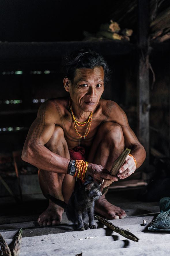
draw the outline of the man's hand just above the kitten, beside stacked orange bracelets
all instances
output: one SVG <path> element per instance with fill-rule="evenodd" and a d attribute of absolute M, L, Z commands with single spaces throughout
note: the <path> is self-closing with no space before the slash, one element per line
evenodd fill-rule
<path fill-rule="evenodd" d="M 98 164 L 88 164 L 86 175 L 91 175 L 93 180 L 98 183 L 102 183 L 104 179 L 101 188 L 109 186 L 113 181 L 118 181 L 117 177 L 110 175 L 108 170 Z"/>

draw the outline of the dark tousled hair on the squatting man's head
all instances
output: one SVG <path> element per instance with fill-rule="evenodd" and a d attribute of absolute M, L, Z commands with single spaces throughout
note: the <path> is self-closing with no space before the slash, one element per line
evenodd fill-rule
<path fill-rule="evenodd" d="M 103 67 L 104 70 L 104 83 L 110 79 L 111 70 L 100 53 L 97 53 L 89 48 L 80 49 L 66 54 L 63 57 L 63 70 L 65 77 L 73 81 L 75 70 L 77 68 L 95 68 Z"/>

